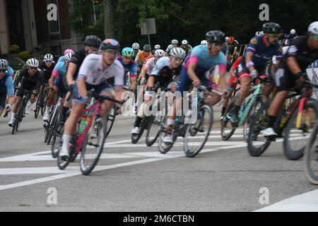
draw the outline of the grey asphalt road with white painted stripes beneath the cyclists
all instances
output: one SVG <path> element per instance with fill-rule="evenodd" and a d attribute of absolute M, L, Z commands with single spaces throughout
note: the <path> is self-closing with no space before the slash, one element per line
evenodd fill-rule
<path fill-rule="evenodd" d="M 144 136 L 131 144 L 134 119 L 119 117 L 89 176 L 78 160 L 57 168 L 42 119 L 28 116 L 15 136 L 7 122 L 1 117 L 0 211 L 318 210 L 317 186 L 307 182 L 302 160 L 287 160 L 279 141 L 250 157 L 242 129 L 222 141 L 218 122 L 204 150 L 189 158 L 182 139 L 166 155 L 156 143 L 147 147 Z M 288 204 L 275 204 L 281 201 Z"/>

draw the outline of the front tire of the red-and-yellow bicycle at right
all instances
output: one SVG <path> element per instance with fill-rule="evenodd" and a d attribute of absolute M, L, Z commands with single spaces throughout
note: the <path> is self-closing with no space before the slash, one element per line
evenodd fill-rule
<path fill-rule="evenodd" d="M 307 100 L 304 105 L 304 109 L 311 108 L 314 109 L 316 112 L 316 119 L 318 119 L 318 103 L 315 100 Z M 290 145 L 290 131 L 292 129 L 292 126 L 294 125 L 294 121 L 298 116 L 298 109 L 299 106 L 295 109 L 293 114 L 290 116 L 290 119 L 288 120 L 288 123 L 285 127 L 285 134 L 284 134 L 284 141 L 283 141 L 283 152 L 285 154 L 285 157 L 288 158 L 288 160 L 299 160 L 302 155 L 304 155 L 305 145 L 298 149 L 293 150 Z"/>

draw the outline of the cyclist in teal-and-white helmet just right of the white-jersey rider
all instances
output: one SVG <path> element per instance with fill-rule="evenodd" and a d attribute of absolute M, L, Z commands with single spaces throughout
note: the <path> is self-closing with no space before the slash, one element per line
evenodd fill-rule
<path fill-rule="evenodd" d="M 130 89 L 135 90 L 137 86 L 137 66 L 135 62 L 133 61 L 132 57 L 134 56 L 134 49 L 131 49 L 130 47 L 125 47 L 122 49 L 122 56 L 118 57 L 118 60 L 120 63 L 122 63 L 122 66 L 124 66 L 125 70 L 125 81 L 127 73 L 129 72 L 129 78 L 131 81 Z M 126 84 L 125 84 L 126 85 Z"/>

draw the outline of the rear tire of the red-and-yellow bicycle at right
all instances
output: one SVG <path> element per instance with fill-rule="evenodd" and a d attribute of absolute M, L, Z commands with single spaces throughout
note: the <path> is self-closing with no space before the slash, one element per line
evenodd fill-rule
<path fill-rule="evenodd" d="M 255 147 L 252 143 L 254 137 L 259 136 L 259 132 L 264 129 L 261 124 L 264 123 L 264 116 L 266 115 L 266 109 L 269 108 L 269 104 L 270 102 L 266 102 L 264 105 L 262 105 L 257 114 L 255 114 L 254 119 L 252 119 L 251 123 L 249 124 L 249 140 L 247 142 L 247 150 L 249 152 L 249 155 L 253 157 L 257 157 L 263 154 L 264 151 L 269 148 L 269 145 L 271 144 L 271 141 L 269 139 L 266 139 L 266 142 L 260 147 Z"/>

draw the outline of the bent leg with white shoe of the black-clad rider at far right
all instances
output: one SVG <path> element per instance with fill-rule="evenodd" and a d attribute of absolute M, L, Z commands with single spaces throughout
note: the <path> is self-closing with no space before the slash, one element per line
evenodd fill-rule
<path fill-rule="evenodd" d="M 288 74 L 288 71 L 283 68 L 278 69 L 275 73 L 275 83 L 278 93 L 276 93 L 273 102 L 271 102 L 268 114 L 266 115 L 266 129 L 261 131 L 264 136 L 277 136 L 277 134 L 273 131 L 273 124 L 278 117 L 279 111 L 283 106 L 283 102 L 285 102 L 288 97 L 290 88 L 295 86 L 295 81 L 291 78 L 292 77 Z"/>

